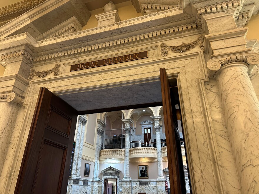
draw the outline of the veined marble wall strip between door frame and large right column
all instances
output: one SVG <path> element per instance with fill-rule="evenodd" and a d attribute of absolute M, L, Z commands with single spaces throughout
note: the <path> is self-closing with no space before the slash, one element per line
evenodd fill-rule
<path fill-rule="evenodd" d="M 220 102 L 218 85 L 216 79 L 210 79 L 204 83 L 209 102 L 212 124 L 215 132 L 220 166 L 223 172 L 225 189 L 227 193 L 240 193 L 238 175 L 235 168 L 234 158 L 230 147 L 228 131 L 225 124 L 223 109 Z"/>

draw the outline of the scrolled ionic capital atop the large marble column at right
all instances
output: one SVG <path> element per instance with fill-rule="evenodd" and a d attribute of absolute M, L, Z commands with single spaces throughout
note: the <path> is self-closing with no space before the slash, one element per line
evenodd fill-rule
<path fill-rule="evenodd" d="M 248 66 L 247 73 L 250 74 L 253 71 L 255 65 L 259 64 L 259 54 L 258 53 L 246 53 L 244 55 L 233 55 L 224 58 L 212 58 L 207 62 L 208 76 L 209 78 L 214 78 L 216 71 L 218 71 L 222 66 L 234 63 L 243 62 Z"/>

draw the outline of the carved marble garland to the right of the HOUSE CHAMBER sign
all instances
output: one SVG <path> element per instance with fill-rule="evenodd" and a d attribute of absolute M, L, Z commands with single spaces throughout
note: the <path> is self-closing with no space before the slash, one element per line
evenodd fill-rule
<path fill-rule="evenodd" d="M 203 50 L 204 48 L 204 35 L 200 35 L 199 38 L 196 41 L 192 41 L 191 43 L 182 43 L 178 46 L 167 46 L 165 43 L 161 43 L 161 55 L 163 57 L 168 55 L 168 50 L 174 52 L 174 53 L 185 53 L 186 51 L 189 51 L 190 49 L 195 48 L 197 45 L 200 46 L 200 49 Z M 168 49 L 168 50 L 167 50 Z"/>

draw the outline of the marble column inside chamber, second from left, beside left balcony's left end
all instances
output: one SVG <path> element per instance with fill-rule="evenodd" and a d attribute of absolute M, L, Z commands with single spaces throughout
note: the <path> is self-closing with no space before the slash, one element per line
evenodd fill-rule
<path fill-rule="evenodd" d="M 99 156 L 101 150 L 101 141 L 102 141 L 102 134 L 104 128 L 104 121 L 101 119 L 97 119 L 97 136 L 96 136 L 96 144 L 95 144 L 95 154 L 94 154 L 94 175 L 93 180 L 98 181 L 99 175 Z"/>

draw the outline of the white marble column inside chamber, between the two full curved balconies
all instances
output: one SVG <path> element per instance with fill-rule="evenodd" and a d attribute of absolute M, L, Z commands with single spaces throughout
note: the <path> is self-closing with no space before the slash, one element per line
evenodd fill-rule
<path fill-rule="evenodd" d="M 133 123 L 131 118 L 122 119 L 125 123 L 125 150 L 124 150 L 124 177 L 123 180 L 130 180 L 129 177 L 129 135 L 131 130 L 131 123 Z"/>

